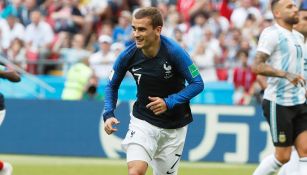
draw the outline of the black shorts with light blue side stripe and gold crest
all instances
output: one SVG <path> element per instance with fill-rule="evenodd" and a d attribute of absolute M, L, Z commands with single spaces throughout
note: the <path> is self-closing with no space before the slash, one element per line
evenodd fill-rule
<path fill-rule="evenodd" d="M 281 106 L 263 100 L 263 113 L 270 125 L 275 146 L 287 147 L 294 144 L 296 137 L 307 130 L 307 104 Z"/>

